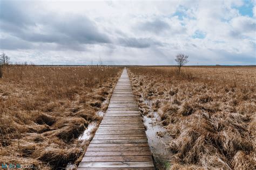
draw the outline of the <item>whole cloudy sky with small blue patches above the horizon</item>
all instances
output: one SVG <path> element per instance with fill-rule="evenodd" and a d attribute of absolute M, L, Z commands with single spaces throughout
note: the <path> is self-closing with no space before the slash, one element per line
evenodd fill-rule
<path fill-rule="evenodd" d="M 0 52 L 35 64 L 255 65 L 256 0 L 2 1 Z"/>

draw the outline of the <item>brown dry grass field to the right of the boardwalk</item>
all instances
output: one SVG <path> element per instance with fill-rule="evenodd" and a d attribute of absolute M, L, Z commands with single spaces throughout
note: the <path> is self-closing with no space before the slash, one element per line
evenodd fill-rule
<path fill-rule="evenodd" d="M 256 68 L 130 67 L 144 115 L 157 111 L 173 137 L 171 169 L 256 168 Z M 143 101 L 150 100 L 152 107 Z"/>

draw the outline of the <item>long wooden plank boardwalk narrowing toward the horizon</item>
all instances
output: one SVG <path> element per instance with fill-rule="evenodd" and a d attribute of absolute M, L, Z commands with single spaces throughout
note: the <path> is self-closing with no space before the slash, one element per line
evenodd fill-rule
<path fill-rule="evenodd" d="M 78 169 L 154 169 L 126 69 Z"/>

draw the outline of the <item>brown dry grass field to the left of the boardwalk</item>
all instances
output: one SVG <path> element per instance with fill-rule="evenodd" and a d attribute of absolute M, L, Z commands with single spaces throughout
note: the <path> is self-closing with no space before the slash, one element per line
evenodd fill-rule
<path fill-rule="evenodd" d="M 89 141 L 77 138 L 106 110 L 119 67 L 9 65 L 0 79 L 0 162 L 61 168 Z"/>

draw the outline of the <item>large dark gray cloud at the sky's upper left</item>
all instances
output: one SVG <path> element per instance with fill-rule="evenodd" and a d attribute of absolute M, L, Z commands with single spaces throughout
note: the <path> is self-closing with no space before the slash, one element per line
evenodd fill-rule
<path fill-rule="evenodd" d="M 73 44 L 111 43 L 109 37 L 85 16 L 48 13 L 46 16 L 25 17 L 25 12 L 26 10 L 19 10 L 12 2 L 1 2 L 0 31 L 24 41 L 55 43 L 59 47 L 65 45 L 75 50 L 77 48 Z M 42 25 L 41 31 L 37 33 L 35 30 Z M 21 41 L 15 42 L 15 47 L 18 47 L 18 42 Z M 12 44 L 4 44 L 1 48 L 10 49 L 11 46 Z M 24 48 L 24 45 L 21 44 L 20 48 Z"/>

